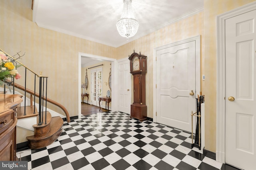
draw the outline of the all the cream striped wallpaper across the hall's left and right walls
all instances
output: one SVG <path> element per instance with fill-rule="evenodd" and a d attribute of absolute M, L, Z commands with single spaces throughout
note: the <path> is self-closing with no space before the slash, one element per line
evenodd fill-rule
<path fill-rule="evenodd" d="M 123 59 L 141 51 L 148 56 L 146 105 L 153 117 L 154 48 L 196 35 L 201 36 L 201 91 L 205 95 L 205 149 L 216 151 L 216 16 L 254 0 L 204 0 L 204 12 L 178 21 L 118 48 L 40 28 L 32 22 L 31 0 L 0 0 L 0 47 L 10 55 L 22 51 L 22 63 L 39 74 L 49 76 L 49 98 L 78 115 L 78 52 Z M 24 75 L 23 72 L 20 72 Z M 83 80 L 83 79 L 82 79 Z M 20 80 L 21 81 L 21 80 Z M 19 83 L 19 82 L 17 82 Z M 28 85 L 30 86 L 30 85 Z M 72 89 L 72 90 L 67 90 Z M 52 106 L 54 107 L 54 106 Z M 57 112 L 62 112 L 55 108 Z M 17 143 L 22 139 L 17 138 Z"/>

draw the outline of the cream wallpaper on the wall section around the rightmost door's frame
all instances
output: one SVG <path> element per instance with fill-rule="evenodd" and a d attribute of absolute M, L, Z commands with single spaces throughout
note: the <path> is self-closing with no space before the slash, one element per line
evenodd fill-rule
<path fill-rule="evenodd" d="M 204 0 L 205 149 L 216 152 L 216 16 L 254 0 Z"/>

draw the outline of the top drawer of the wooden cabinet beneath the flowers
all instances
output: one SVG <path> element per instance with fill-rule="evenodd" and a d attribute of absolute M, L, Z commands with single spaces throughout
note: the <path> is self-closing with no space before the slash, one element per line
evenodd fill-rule
<path fill-rule="evenodd" d="M 13 112 L 13 110 L 8 110 L 3 113 L 0 113 L 0 134 L 13 123 Z"/>

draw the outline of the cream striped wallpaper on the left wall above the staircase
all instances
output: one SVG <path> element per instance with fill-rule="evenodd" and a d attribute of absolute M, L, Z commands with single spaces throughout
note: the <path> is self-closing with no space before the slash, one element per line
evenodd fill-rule
<path fill-rule="evenodd" d="M 65 106 L 70 116 L 78 115 L 78 108 L 73 107 L 78 102 L 74 95 L 78 93 L 78 82 L 73 82 L 78 80 L 78 52 L 113 58 L 116 48 L 38 27 L 32 22 L 31 3 L 0 0 L 0 47 L 10 55 L 25 53 L 21 62 L 37 74 L 42 71 L 43 76 L 49 77 L 48 98 Z M 24 75 L 21 69 L 18 71 Z M 22 84 L 21 81 L 16 83 Z M 32 88 L 30 84 L 28 88 Z"/>

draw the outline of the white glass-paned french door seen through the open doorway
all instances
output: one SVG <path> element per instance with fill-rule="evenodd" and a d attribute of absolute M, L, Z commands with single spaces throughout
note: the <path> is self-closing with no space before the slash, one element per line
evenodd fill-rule
<path fill-rule="evenodd" d="M 99 106 L 99 97 L 102 96 L 102 68 L 91 70 L 92 105 Z"/>

